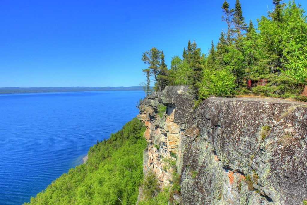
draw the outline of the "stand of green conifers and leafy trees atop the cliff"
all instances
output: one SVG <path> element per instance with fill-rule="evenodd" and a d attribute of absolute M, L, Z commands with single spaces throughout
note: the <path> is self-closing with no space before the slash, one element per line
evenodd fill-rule
<path fill-rule="evenodd" d="M 146 82 L 153 79 L 154 90 L 160 92 L 168 85 L 190 85 L 196 104 L 212 95 L 255 94 L 306 101 L 301 96 L 307 79 L 305 11 L 294 1 L 273 0 L 273 4 L 255 26 L 244 18 L 239 0 L 234 7 L 225 1 L 221 5 L 225 29 L 208 53 L 189 40 L 182 56 L 172 57 L 168 69 L 163 51 L 153 47 L 142 56 L 149 65 L 143 70 Z M 142 85 L 149 94 L 149 84 Z"/>

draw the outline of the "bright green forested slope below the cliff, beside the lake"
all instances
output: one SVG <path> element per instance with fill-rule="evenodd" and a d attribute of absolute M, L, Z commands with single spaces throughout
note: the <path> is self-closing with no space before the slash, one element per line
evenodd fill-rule
<path fill-rule="evenodd" d="M 144 177 L 144 131 L 139 120 L 131 120 L 91 147 L 87 164 L 70 169 L 29 204 L 135 204 Z"/>

